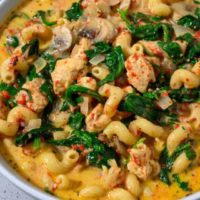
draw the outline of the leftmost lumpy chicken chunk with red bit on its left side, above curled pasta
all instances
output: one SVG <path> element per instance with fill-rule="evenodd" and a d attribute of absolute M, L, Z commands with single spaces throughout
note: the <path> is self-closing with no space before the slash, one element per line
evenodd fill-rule
<path fill-rule="evenodd" d="M 28 90 L 30 94 L 25 90 L 21 90 L 16 96 L 17 103 L 24 105 L 37 113 L 42 112 L 48 104 L 48 98 L 40 91 L 40 87 L 43 83 L 44 80 L 41 78 L 26 82 L 22 88 Z"/>

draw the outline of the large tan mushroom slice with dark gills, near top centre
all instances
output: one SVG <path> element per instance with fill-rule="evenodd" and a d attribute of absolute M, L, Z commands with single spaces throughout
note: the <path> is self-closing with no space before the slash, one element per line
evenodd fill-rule
<path fill-rule="evenodd" d="M 115 38 L 116 34 L 117 30 L 112 22 L 98 17 L 88 17 L 87 20 L 83 22 L 82 29 L 79 32 L 79 35 L 93 39 L 94 42 L 110 42 Z"/>

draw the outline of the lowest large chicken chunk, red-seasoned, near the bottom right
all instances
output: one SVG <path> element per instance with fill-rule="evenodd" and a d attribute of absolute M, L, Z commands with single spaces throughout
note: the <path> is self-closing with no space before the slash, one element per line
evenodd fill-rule
<path fill-rule="evenodd" d="M 151 150 L 142 143 L 136 148 L 130 149 L 130 161 L 127 168 L 141 180 L 147 180 L 147 178 L 158 174 L 160 171 L 158 162 L 152 158 Z"/>

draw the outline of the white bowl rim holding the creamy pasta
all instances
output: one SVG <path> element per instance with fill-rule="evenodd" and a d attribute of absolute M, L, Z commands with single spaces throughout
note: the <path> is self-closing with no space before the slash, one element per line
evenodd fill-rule
<path fill-rule="evenodd" d="M 19 5 L 23 0 L 0 0 L 0 22 L 9 15 L 9 13 Z M 43 192 L 12 169 L 5 159 L 0 155 L 0 173 L 7 177 L 13 184 L 25 191 L 26 193 L 41 200 L 57 200 L 57 198 Z M 184 200 L 200 200 L 200 192 L 190 195 Z"/>

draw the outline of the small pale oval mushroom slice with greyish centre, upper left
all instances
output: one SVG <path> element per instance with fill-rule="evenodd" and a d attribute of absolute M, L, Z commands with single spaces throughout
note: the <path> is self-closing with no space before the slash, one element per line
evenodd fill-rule
<path fill-rule="evenodd" d="M 72 44 L 72 33 L 70 29 L 63 25 L 58 26 L 53 30 L 54 39 L 53 46 L 58 51 L 66 51 Z"/>

